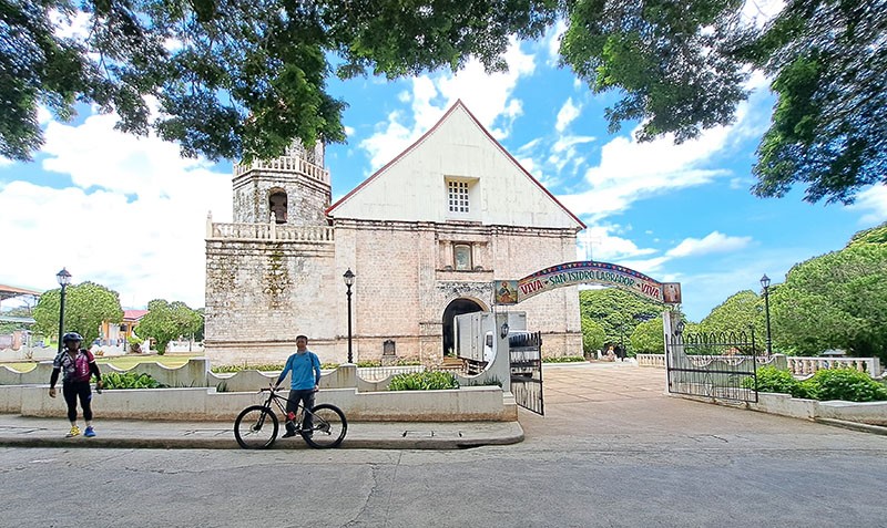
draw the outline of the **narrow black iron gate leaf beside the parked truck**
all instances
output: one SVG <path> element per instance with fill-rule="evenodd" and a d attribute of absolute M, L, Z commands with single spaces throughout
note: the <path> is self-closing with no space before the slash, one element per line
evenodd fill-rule
<path fill-rule="evenodd" d="M 542 333 L 520 333 L 508 338 L 511 360 L 511 393 L 514 402 L 544 415 L 542 401 Z"/>

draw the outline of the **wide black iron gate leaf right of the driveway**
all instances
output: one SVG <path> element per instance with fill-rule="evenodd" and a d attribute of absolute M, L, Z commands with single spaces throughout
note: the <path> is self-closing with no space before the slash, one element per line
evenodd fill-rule
<path fill-rule="evenodd" d="M 669 340 L 669 392 L 757 402 L 757 353 L 745 332 L 675 334 Z"/>

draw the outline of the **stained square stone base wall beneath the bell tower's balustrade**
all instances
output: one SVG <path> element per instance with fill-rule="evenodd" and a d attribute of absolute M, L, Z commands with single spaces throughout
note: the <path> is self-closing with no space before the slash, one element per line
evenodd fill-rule
<path fill-rule="evenodd" d="M 333 360 L 330 283 L 341 283 L 333 241 L 207 240 L 205 354 L 214 364 L 281 362 L 306 334 Z"/>

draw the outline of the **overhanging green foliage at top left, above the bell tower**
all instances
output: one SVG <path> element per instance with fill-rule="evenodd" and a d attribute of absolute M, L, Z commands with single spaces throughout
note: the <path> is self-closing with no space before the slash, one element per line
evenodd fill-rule
<path fill-rule="evenodd" d="M 470 56 L 502 69 L 509 37 L 539 37 L 554 12 L 544 0 L 0 0 L 0 155 L 30 159 L 43 143 L 38 106 L 67 120 L 75 102 L 188 156 L 340 142 L 330 74 L 395 77 Z M 78 14 L 86 35 L 69 37 L 60 28 Z"/>

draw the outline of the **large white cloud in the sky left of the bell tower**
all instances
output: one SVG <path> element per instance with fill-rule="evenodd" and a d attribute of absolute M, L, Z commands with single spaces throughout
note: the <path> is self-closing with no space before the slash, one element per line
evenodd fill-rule
<path fill-rule="evenodd" d="M 0 188 L 0 231 L 14 248 L 1 282 L 55 288 L 67 267 L 121 294 L 126 307 L 156 298 L 204 306 L 207 211 L 231 220 L 231 175 L 182 159 L 175 145 L 113 131 L 115 116 L 47 128 L 43 167 L 73 186 L 11 182 Z M 39 255 L 39 258 L 33 256 Z"/>

